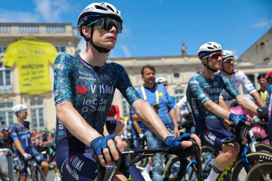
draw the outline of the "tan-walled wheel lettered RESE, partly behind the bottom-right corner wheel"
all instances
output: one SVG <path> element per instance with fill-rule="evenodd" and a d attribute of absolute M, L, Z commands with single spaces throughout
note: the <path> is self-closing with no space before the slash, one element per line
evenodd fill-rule
<path fill-rule="evenodd" d="M 272 160 L 272 154 L 264 153 L 264 152 L 252 152 L 247 154 L 247 158 L 248 158 L 250 167 L 253 167 L 253 165 L 259 161 Z M 241 160 L 239 160 L 232 170 L 230 180 L 231 181 L 245 180 L 246 176 L 247 176 L 247 173 L 244 169 L 244 166 Z"/>

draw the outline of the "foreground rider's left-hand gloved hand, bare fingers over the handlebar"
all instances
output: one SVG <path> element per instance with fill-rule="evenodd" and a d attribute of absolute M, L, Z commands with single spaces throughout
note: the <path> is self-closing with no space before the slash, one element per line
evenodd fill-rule
<path fill-rule="evenodd" d="M 112 157 L 114 160 L 119 159 L 119 154 L 115 148 L 114 142 L 117 144 L 117 148 L 119 151 L 124 151 L 128 145 L 125 141 L 122 141 L 122 138 L 120 136 L 116 134 L 108 135 L 105 137 L 101 136 L 101 137 L 95 138 L 91 142 L 92 149 L 98 155 L 100 163 L 104 167 L 106 167 L 107 163 L 110 165 L 113 165 L 113 160 L 110 156 L 110 153 L 112 154 Z M 105 157 L 105 160 L 103 158 L 103 155 Z"/>

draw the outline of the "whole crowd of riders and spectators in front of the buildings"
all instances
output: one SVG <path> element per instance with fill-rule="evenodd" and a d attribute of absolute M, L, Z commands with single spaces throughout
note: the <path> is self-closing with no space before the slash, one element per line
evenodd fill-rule
<path fill-rule="evenodd" d="M 122 131 L 139 138 L 145 135 L 148 148 L 167 147 L 173 151 L 192 146 L 188 141 L 192 138 L 200 151 L 202 145 L 220 151 L 206 179 L 215 180 L 240 151 L 237 142 L 222 144 L 224 138 L 232 135 L 229 125 L 236 128 L 250 125 L 250 116 L 234 114 L 229 107 L 236 101 L 255 115 L 258 107 L 270 104 L 271 109 L 272 71 L 258 76 L 261 89 L 257 91 L 242 71 L 235 71 L 231 51 L 222 49 L 219 43 L 207 42 L 197 51 L 202 71 L 190 78 L 186 96 L 175 103 L 167 91 L 167 78 L 156 79 L 154 66 L 142 67 L 144 84 L 135 90 L 121 65 L 106 62 L 107 53 L 115 47 L 118 33 L 122 32 L 122 23 L 121 12 L 109 3 L 92 3 L 83 9 L 77 24 L 79 34 L 86 40 L 86 50 L 76 55 L 65 52 L 55 60 L 55 64 L 62 65 L 54 66 L 56 130 L 49 136 L 46 129 L 30 132 L 29 122 L 25 121 L 27 107 L 20 104 L 13 108 L 17 120 L 10 132 L 7 128 L 2 130 L 3 140 L 13 141 L 15 153 L 25 161 L 36 155 L 45 176 L 48 162 L 38 151 L 54 140 L 61 175 L 67 180 L 94 180 L 97 166 L 92 154 L 96 153 L 102 166 L 111 169 L 113 160 L 119 159 L 117 149 L 124 151 L 127 147 L 118 135 Z M 254 101 L 238 92 L 240 84 Z M 112 105 L 115 88 L 131 105 L 129 125 L 120 118 L 118 106 Z M 178 129 L 181 116 L 189 112 L 196 134 L 181 133 Z M 272 134 L 271 125 L 270 120 L 269 134 Z M 154 181 L 163 179 L 162 162 L 161 155 L 156 154 L 149 163 Z M 173 165 L 173 174 L 179 167 L 177 163 Z M 26 177 L 26 169 L 21 168 L 21 180 Z M 144 180 L 134 165 L 118 171 L 115 179 Z"/>

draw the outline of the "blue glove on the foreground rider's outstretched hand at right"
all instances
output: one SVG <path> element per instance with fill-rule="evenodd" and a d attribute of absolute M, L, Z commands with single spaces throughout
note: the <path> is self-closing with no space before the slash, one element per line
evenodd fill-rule
<path fill-rule="evenodd" d="M 179 137 L 167 136 L 164 140 L 165 146 L 170 148 L 172 151 L 176 151 L 182 148 L 181 142 L 188 141 L 191 138 L 190 133 L 183 133 Z"/>

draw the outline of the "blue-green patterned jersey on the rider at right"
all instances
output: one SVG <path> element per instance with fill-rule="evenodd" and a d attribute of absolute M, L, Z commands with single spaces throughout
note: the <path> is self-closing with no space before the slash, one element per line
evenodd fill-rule
<path fill-rule="evenodd" d="M 205 119 L 218 119 L 218 117 L 207 110 L 203 104 L 207 100 L 212 100 L 218 104 L 222 89 L 225 89 L 234 99 L 239 95 L 234 85 L 224 75 L 215 75 L 214 79 L 208 79 L 201 73 L 198 73 L 190 78 L 186 96 L 196 124 Z"/>

